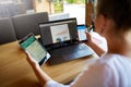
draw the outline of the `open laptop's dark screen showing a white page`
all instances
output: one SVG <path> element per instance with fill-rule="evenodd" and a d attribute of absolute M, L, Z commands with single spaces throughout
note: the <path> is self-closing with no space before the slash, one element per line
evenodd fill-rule
<path fill-rule="evenodd" d="M 50 21 L 39 24 L 44 46 L 60 46 L 78 41 L 76 18 Z"/>

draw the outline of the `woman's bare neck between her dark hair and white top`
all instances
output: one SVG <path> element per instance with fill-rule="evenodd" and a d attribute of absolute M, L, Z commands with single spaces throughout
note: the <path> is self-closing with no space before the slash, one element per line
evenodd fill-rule
<path fill-rule="evenodd" d="M 118 53 L 131 58 L 131 32 L 124 33 L 121 37 L 118 37 L 117 35 L 108 37 L 107 41 L 109 53 Z"/>

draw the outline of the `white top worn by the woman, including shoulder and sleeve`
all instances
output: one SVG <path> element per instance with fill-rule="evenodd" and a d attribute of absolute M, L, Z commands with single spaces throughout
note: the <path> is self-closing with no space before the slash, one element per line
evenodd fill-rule
<path fill-rule="evenodd" d="M 49 80 L 45 87 L 131 87 L 131 59 L 104 54 L 70 85 Z"/>

